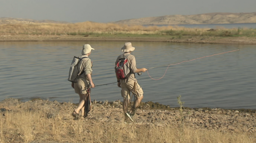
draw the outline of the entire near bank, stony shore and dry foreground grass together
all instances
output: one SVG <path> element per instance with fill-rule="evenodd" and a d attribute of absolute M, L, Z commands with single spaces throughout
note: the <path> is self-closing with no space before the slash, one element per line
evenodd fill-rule
<path fill-rule="evenodd" d="M 155 108 L 146 102 L 124 119 L 122 104 L 92 102 L 87 118 L 71 116 L 72 103 L 38 100 L 0 102 L 0 142 L 74 143 L 254 143 L 255 111 Z M 150 108 L 154 107 L 154 108 Z"/>

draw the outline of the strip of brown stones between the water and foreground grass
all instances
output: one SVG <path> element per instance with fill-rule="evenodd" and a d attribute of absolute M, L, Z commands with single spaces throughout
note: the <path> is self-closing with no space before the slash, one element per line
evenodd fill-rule
<path fill-rule="evenodd" d="M 38 112 L 45 114 L 46 118 L 56 118 L 61 115 L 63 119 L 71 119 L 71 113 L 76 107 L 73 103 L 59 103 L 57 101 L 35 99 L 21 102 L 18 99 L 8 98 L 0 102 L 0 113 L 18 113 L 20 110 Z M 97 120 L 102 124 L 111 122 L 124 122 L 122 113 L 122 102 L 92 102 L 92 110 L 87 118 L 83 120 Z M 256 112 L 249 109 L 228 110 L 220 108 L 172 108 L 166 105 L 153 102 L 141 103 L 133 117 L 136 125 L 150 125 L 165 127 L 169 124 L 179 127 L 180 124 L 193 128 L 216 129 L 231 132 L 256 131 Z"/>

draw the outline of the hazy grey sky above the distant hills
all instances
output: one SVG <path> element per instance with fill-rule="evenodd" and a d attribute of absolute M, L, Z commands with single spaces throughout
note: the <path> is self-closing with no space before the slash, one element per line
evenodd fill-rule
<path fill-rule="evenodd" d="M 215 12 L 256 12 L 256 0 L 0 0 L 0 17 L 68 22 Z"/>

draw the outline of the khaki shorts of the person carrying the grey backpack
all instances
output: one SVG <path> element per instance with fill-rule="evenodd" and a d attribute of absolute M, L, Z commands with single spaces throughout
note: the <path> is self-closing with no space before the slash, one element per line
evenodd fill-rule
<path fill-rule="evenodd" d="M 87 94 L 86 87 L 88 87 L 89 82 L 84 78 L 78 78 L 77 83 L 74 83 L 75 93 L 77 94 Z"/>

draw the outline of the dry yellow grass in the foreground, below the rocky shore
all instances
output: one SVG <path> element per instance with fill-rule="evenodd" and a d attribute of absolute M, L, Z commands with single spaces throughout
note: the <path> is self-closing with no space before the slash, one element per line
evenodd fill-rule
<path fill-rule="evenodd" d="M 65 115 L 46 118 L 45 112 L 6 112 L 0 116 L 0 142 L 92 142 L 92 143 L 253 143 L 256 133 L 219 132 L 217 130 L 174 128 L 124 122 L 73 120 Z"/>

